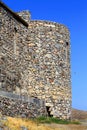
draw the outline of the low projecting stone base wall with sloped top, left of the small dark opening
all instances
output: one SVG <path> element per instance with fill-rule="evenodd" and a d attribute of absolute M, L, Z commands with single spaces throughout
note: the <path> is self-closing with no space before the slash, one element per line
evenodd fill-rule
<path fill-rule="evenodd" d="M 2 94 L 0 95 L 0 113 L 7 116 L 20 116 L 24 118 L 35 118 L 38 116 L 46 116 L 46 109 L 44 101 L 37 98 L 29 98 L 28 100 L 20 95 L 12 95 L 8 93 L 9 96 Z M 10 97 L 10 95 L 12 97 Z M 18 97 L 18 99 L 16 98 Z"/>

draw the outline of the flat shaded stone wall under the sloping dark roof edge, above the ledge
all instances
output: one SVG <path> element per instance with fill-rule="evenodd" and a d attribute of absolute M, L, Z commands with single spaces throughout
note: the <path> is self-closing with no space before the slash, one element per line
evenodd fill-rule
<path fill-rule="evenodd" d="M 22 80 L 28 66 L 25 40 L 28 29 L 3 8 L 0 20 L 0 89 L 9 92 L 16 89 L 19 91 L 27 84 L 26 79 L 24 82 Z"/>

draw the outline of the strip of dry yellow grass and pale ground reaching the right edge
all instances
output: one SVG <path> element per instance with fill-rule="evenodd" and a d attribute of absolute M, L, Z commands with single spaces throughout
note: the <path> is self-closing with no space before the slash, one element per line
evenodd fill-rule
<path fill-rule="evenodd" d="M 87 130 L 87 126 L 82 125 L 38 124 L 31 120 L 12 117 L 8 117 L 4 125 L 11 130 L 21 130 L 22 126 L 27 127 L 28 130 Z"/>

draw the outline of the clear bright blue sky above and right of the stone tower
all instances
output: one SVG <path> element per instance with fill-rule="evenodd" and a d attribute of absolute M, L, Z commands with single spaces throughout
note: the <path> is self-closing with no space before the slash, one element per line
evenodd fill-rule
<path fill-rule="evenodd" d="M 87 0 L 3 0 L 31 19 L 65 24 L 71 34 L 72 107 L 87 110 Z"/>

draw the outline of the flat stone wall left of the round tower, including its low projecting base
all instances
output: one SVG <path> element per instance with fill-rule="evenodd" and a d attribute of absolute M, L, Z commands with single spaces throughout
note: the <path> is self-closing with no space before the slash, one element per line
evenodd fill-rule
<path fill-rule="evenodd" d="M 24 93 L 29 64 L 27 34 L 28 29 L 0 7 L 0 112 L 4 115 L 46 115 L 44 102 Z"/>

